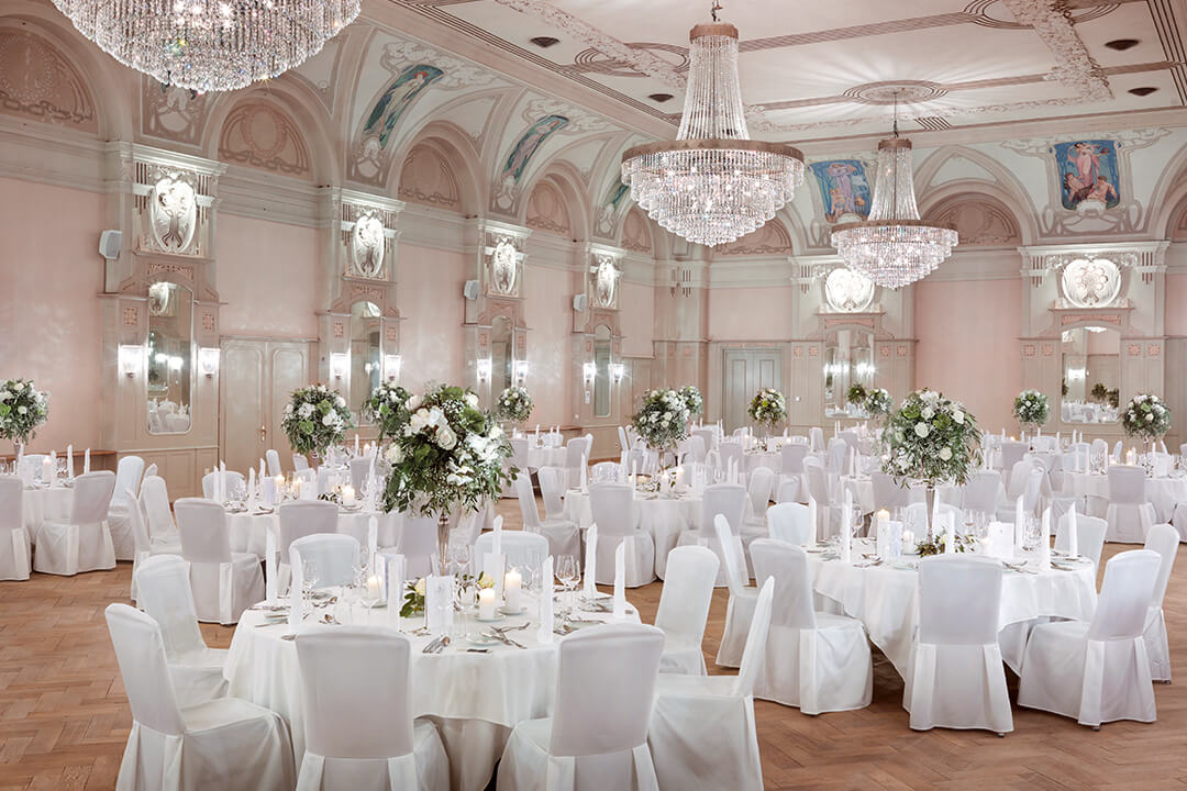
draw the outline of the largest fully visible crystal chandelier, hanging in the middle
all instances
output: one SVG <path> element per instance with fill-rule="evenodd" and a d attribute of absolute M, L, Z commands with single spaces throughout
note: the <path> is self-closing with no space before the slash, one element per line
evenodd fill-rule
<path fill-rule="evenodd" d="M 738 85 L 738 31 L 717 21 L 688 33 L 688 84 L 672 142 L 622 155 L 622 183 L 660 225 L 705 245 L 760 228 L 804 181 L 804 155 L 750 140 Z"/>

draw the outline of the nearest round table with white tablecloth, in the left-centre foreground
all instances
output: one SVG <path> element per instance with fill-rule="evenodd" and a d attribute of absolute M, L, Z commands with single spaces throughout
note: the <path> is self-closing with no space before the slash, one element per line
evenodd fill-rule
<path fill-rule="evenodd" d="M 537 604 L 525 597 L 527 612 Z M 424 617 L 400 618 L 386 607 L 366 611 L 361 606 L 336 605 L 318 608 L 316 617 L 334 611 L 343 624 L 387 626 L 413 630 Z M 610 621 L 610 613 L 579 612 L 589 620 Z M 310 615 L 306 615 L 310 619 Z M 499 626 L 515 626 L 522 617 L 508 617 Z M 540 643 L 537 621 L 526 630 L 508 634 L 525 649 L 509 645 L 483 645 L 488 653 L 471 653 L 469 640 L 458 637 L 440 653 L 426 655 L 423 649 L 431 637 L 406 636 L 412 642 L 408 669 L 412 687 L 412 715 L 427 717 L 437 725 L 450 760 L 450 787 L 482 791 L 490 780 L 495 763 L 502 757 L 512 729 L 523 720 L 552 714 L 557 687 L 557 642 Z M 639 623 L 639 611 L 627 606 L 627 620 Z M 262 626 L 265 612 L 243 612 L 231 638 L 223 670 L 230 684 L 228 695 L 264 706 L 288 723 L 293 759 L 300 766 L 305 754 L 305 721 L 301 713 L 300 666 L 286 621 Z M 312 623 L 312 621 L 310 621 Z M 559 623 L 559 619 L 558 619 Z M 466 633 L 481 631 L 482 624 L 468 619 Z M 307 629 L 307 626 L 303 626 Z M 326 626 L 325 629 L 332 629 Z"/>

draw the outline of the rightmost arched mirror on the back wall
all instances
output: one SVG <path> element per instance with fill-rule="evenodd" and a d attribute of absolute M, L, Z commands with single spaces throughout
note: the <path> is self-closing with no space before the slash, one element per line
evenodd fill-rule
<path fill-rule="evenodd" d="M 1115 423 L 1121 400 L 1121 332 L 1110 327 L 1064 331 L 1060 420 Z"/>

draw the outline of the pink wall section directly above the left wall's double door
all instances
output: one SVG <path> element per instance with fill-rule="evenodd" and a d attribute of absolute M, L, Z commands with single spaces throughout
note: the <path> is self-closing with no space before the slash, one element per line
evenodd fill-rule
<path fill-rule="evenodd" d="M 317 230 L 223 212 L 217 235 L 222 333 L 316 338 Z"/>

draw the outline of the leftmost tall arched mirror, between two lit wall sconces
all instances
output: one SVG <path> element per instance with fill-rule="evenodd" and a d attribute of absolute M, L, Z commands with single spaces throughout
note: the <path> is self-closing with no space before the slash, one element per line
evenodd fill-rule
<path fill-rule="evenodd" d="M 157 282 L 148 287 L 150 434 L 185 434 L 192 421 L 193 294 L 185 286 Z"/>

